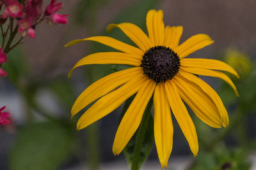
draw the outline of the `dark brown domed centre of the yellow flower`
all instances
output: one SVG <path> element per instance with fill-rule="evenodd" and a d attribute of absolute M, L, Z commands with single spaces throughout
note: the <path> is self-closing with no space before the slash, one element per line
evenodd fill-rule
<path fill-rule="evenodd" d="M 154 46 L 144 53 L 141 67 L 148 78 L 156 83 L 165 82 L 178 73 L 180 57 L 166 46 Z"/>

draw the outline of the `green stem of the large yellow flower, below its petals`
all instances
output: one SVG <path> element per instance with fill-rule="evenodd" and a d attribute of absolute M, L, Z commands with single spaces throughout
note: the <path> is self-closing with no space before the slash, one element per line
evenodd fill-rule
<path fill-rule="evenodd" d="M 147 130 L 148 120 L 150 118 L 150 114 L 151 114 L 150 110 L 152 108 L 152 105 L 153 105 L 153 98 L 151 97 L 150 101 L 148 102 L 147 108 L 143 114 L 140 127 L 138 129 L 138 135 L 136 138 L 131 170 L 138 170 L 140 168 L 139 166 L 140 166 L 141 147 L 143 145 L 145 133 Z"/>

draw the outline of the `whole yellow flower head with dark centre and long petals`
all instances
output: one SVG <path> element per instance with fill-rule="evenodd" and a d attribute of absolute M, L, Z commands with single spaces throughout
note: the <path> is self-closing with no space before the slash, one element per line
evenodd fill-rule
<path fill-rule="evenodd" d="M 148 101 L 154 94 L 154 136 L 161 167 L 167 166 L 172 152 L 171 110 L 191 151 L 197 155 L 198 138 L 195 125 L 183 101 L 198 118 L 211 127 L 226 127 L 228 114 L 218 94 L 194 74 L 221 78 L 234 89 L 237 96 L 234 83 L 221 71 L 228 71 L 237 77 L 238 74 L 232 67 L 220 60 L 185 58 L 190 53 L 211 45 L 214 41 L 206 34 L 196 34 L 179 45 L 182 26 L 164 27 L 162 10 L 148 11 L 148 36 L 138 26 L 131 23 L 110 24 L 107 30 L 110 31 L 113 27 L 121 29 L 138 48 L 107 36 L 77 39 L 66 45 L 70 46 L 89 40 L 120 51 L 90 54 L 79 60 L 72 70 L 86 64 L 134 66 L 109 74 L 84 90 L 72 107 L 72 117 L 88 104 L 101 98 L 79 118 L 77 129 L 83 129 L 108 115 L 126 99 L 137 93 L 116 132 L 113 153 L 118 155 L 138 129 Z"/>

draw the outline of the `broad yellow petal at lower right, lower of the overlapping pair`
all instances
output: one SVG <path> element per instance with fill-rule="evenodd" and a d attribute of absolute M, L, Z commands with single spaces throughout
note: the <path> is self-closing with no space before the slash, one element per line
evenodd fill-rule
<path fill-rule="evenodd" d="M 172 81 L 179 89 L 180 97 L 188 104 L 198 118 L 211 127 L 221 127 L 220 113 L 211 97 L 193 83 L 179 76 L 179 74 Z"/>

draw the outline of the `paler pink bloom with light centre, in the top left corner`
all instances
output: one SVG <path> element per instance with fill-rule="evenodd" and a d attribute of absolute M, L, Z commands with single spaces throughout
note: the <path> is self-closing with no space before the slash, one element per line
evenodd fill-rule
<path fill-rule="evenodd" d="M 11 1 L 10 3 L 8 3 L 8 6 L 6 6 L 6 10 L 4 11 L 4 18 L 7 18 L 9 15 L 12 18 L 22 17 L 22 9 L 22 4 Z"/>

